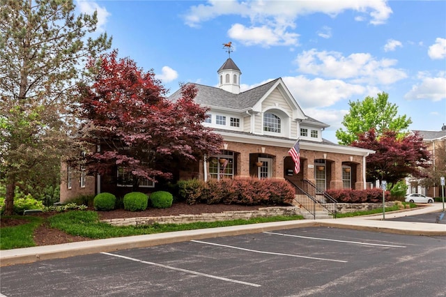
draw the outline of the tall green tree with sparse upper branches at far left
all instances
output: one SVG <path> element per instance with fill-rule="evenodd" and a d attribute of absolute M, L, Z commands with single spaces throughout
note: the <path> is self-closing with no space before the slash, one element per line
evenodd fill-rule
<path fill-rule="evenodd" d="M 0 178 L 5 214 L 13 212 L 15 185 L 57 181 L 61 156 L 75 123 L 76 82 L 82 63 L 109 49 L 98 22 L 74 14 L 72 0 L 0 0 Z M 80 65 L 79 65 L 80 64 Z M 56 178 L 55 178 L 56 177 Z"/>

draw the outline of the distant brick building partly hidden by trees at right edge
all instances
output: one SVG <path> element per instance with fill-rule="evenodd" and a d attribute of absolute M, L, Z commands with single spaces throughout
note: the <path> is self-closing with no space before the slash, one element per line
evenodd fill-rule
<path fill-rule="evenodd" d="M 446 125 L 443 125 L 440 131 L 413 130 L 413 132 L 418 132 L 423 138 L 427 150 L 431 153 L 431 163 L 435 170 L 439 165 L 439 155 L 444 156 L 446 153 Z M 417 178 L 406 178 L 406 184 L 409 186 L 408 194 L 419 193 L 429 197 L 441 196 L 440 181 L 432 188 L 422 187 Z"/>

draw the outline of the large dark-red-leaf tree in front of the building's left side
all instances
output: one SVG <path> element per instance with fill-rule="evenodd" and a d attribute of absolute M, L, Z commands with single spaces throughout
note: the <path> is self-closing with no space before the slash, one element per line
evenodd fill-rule
<path fill-rule="evenodd" d="M 89 61 L 95 80 L 79 86 L 79 138 L 86 147 L 100 145 L 86 156 L 89 172 L 110 174 L 124 167 L 137 188 L 141 179 L 171 178 L 172 164 L 220 152 L 220 135 L 201 124 L 208 109 L 194 102 L 193 84 L 182 86 L 182 98 L 171 102 L 153 70 L 145 73 L 117 54 L 115 50 Z"/>

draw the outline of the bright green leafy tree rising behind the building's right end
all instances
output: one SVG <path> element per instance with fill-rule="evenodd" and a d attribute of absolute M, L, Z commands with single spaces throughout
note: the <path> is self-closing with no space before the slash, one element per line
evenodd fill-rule
<path fill-rule="evenodd" d="M 412 120 L 406 115 L 397 116 L 398 107 L 389 102 L 387 93 L 378 93 L 378 97 L 367 96 L 364 100 L 348 102 L 350 111 L 344 116 L 342 125 L 346 128 L 339 128 L 336 131 L 336 137 L 339 144 L 350 145 L 361 133 L 374 128 L 378 137 L 385 130 L 396 132 L 405 132 L 412 123 Z M 404 133 L 406 134 L 406 133 Z"/>

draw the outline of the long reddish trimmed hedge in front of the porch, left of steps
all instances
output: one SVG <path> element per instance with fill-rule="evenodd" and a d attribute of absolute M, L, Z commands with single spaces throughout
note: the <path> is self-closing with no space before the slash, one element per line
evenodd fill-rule
<path fill-rule="evenodd" d="M 294 199 L 294 188 L 283 180 L 233 178 L 207 183 L 196 179 L 178 182 L 187 204 L 285 205 Z"/>

